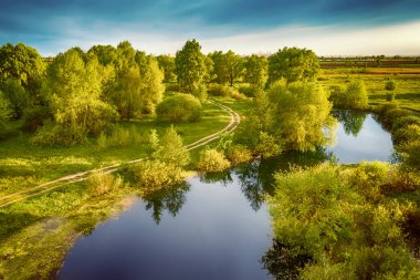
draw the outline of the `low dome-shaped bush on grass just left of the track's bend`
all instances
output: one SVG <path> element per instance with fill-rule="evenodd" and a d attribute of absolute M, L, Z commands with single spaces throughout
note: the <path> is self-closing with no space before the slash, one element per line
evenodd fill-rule
<path fill-rule="evenodd" d="M 198 122 L 201 117 L 201 103 L 191 94 L 176 93 L 168 96 L 157 107 L 160 121 L 181 123 Z"/>

